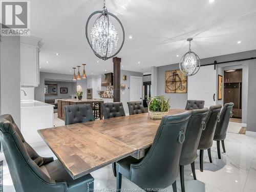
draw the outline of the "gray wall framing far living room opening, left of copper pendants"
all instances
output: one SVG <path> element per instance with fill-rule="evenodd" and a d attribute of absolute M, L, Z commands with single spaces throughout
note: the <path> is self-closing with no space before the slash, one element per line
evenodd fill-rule
<path fill-rule="evenodd" d="M 72 81 L 73 75 L 40 72 L 40 84 L 35 88 L 35 100 L 45 102 L 45 80 Z"/>

